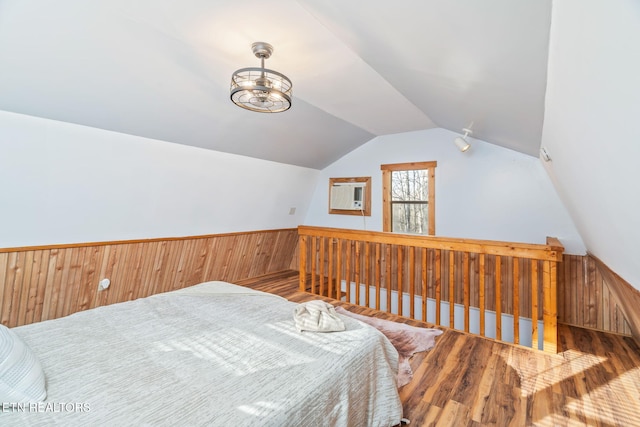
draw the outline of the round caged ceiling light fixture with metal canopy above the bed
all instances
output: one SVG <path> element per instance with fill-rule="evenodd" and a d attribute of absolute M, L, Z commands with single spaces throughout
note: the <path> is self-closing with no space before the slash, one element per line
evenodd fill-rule
<path fill-rule="evenodd" d="M 273 53 L 269 43 L 251 45 L 260 67 L 241 68 L 231 76 L 231 101 L 238 107 L 259 113 L 279 113 L 291 108 L 291 80 L 284 74 L 264 68 Z"/>

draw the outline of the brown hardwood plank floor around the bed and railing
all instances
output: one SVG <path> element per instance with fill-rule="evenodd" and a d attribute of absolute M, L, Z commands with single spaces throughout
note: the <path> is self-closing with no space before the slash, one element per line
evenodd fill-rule
<path fill-rule="evenodd" d="M 236 283 L 294 302 L 318 298 L 298 291 L 292 270 Z M 640 426 L 640 347 L 632 338 L 560 325 L 560 353 L 549 355 L 442 329 L 434 349 L 414 355 L 413 381 L 400 389 L 410 426 Z"/>

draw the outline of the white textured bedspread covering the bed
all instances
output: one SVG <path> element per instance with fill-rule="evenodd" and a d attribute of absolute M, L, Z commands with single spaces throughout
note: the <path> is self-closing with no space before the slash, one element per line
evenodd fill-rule
<path fill-rule="evenodd" d="M 345 316 L 344 332 L 298 332 L 296 306 L 207 282 L 13 328 L 47 397 L 3 407 L 0 424 L 400 424 L 391 343 Z"/>

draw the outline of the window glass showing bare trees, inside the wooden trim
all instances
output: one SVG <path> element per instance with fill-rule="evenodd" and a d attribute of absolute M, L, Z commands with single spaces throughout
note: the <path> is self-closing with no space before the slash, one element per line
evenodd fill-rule
<path fill-rule="evenodd" d="M 428 234 L 428 207 L 428 170 L 398 170 L 391 173 L 391 231 Z"/>

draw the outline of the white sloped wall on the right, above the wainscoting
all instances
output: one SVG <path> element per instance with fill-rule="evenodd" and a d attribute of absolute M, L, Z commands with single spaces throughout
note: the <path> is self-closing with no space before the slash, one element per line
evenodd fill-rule
<path fill-rule="evenodd" d="M 640 289 L 640 3 L 553 2 L 542 144 L 589 252 Z"/>

